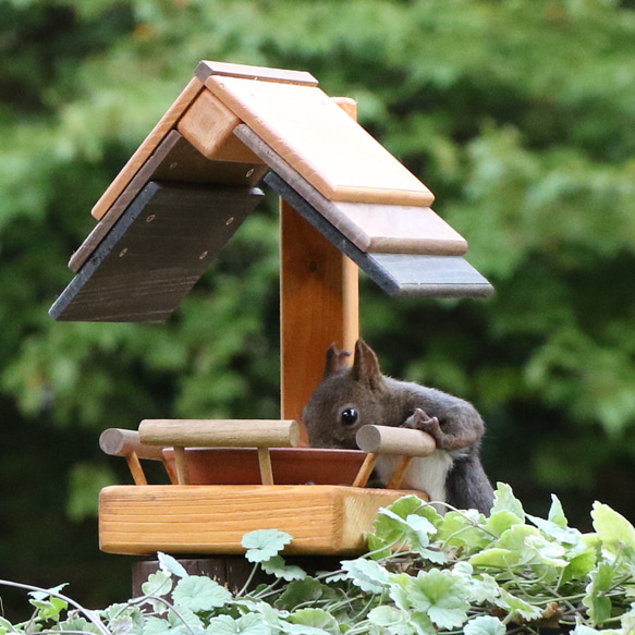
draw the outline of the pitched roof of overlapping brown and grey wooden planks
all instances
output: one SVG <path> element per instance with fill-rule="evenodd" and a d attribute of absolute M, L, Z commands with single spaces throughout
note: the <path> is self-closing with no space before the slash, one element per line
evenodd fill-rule
<path fill-rule="evenodd" d="M 93 208 L 58 320 L 162 321 L 264 182 L 391 295 L 483 297 L 431 192 L 308 73 L 200 62 Z"/>

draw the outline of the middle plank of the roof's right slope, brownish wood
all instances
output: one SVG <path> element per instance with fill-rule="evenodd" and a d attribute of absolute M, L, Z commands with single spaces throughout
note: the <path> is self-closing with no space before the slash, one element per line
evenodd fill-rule
<path fill-rule="evenodd" d="M 429 207 L 332 202 L 247 125 L 234 134 L 363 252 L 460 256 L 467 241 Z"/>

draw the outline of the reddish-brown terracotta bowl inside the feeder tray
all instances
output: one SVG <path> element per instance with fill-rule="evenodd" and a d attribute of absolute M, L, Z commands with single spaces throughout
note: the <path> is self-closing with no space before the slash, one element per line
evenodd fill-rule
<path fill-rule="evenodd" d="M 366 452 L 317 448 L 271 448 L 276 485 L 352 485 Z M 163 450 L 174 466 L 174 451 Z M 187 475 L 192 485 L 258 485 L 260 469 L 255 448 L 187 448 Z"/>

